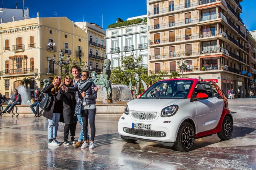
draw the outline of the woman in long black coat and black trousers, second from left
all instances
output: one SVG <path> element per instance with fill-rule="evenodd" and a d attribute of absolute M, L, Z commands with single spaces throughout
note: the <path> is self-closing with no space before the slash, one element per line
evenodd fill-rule
<path fill-rule="evenodd" d="M 69 130 L 71 135 L 71 144 L 75 144 L 75 133 L 76 133 L 76 117 L 75 117 L 75 93 L 63 91 L 66 87 L 73 87 L 71 78 L 67 75 L 62 81 L 62 88 L 59 90 L 57 100 L 61 100 L 63 104 L 63 122 L 64 126 L 64 137 L 63 144 L 69 145 Z M 61 120 L 60 120 L 61 121 Z"/>

